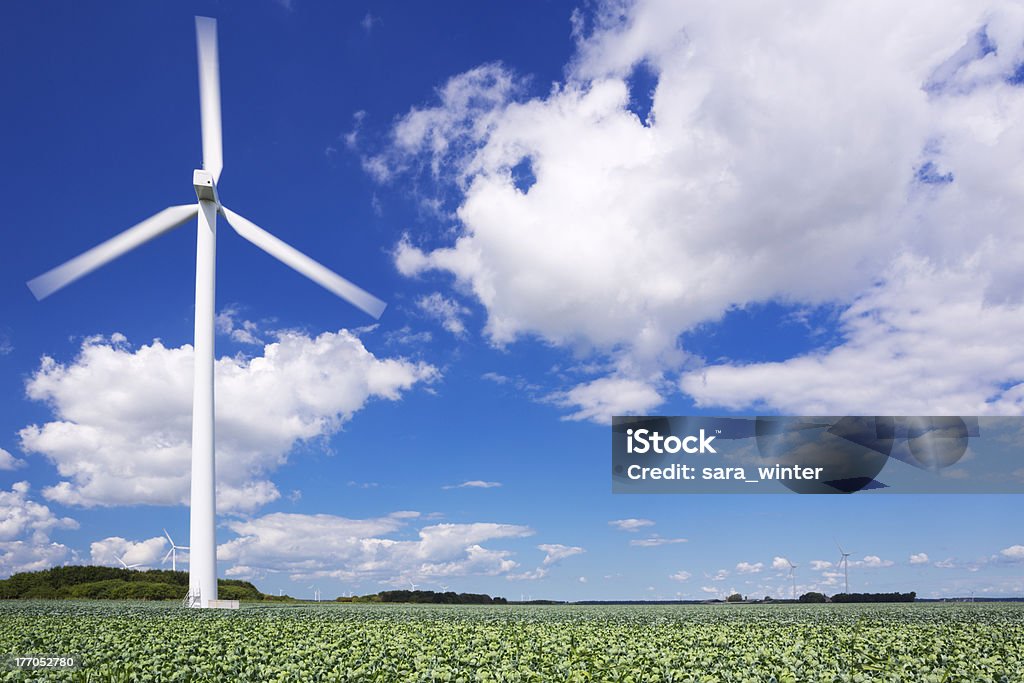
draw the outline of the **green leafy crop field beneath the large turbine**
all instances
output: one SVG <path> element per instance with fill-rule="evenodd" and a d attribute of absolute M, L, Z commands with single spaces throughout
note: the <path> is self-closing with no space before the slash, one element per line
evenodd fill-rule
<path fill-rule="evenodd" d="M 1024 604 L 0 603 L 3 680 L 1024 681 Z M 13 656 L 74 655 L 27 671 Z"/>

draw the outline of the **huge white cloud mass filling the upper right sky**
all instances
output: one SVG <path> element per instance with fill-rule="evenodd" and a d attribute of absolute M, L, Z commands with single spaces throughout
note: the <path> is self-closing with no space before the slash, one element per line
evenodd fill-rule
<path fill-rule="evenodd" d="M 596 352 L 601 377 L 557 394 L 573 419 L 647 412 L 672 385 L 804 414 L 1020 413 L 1021 8 L 804 9 L 608 0 L 575 15 L 543 96 L 495 65 L 453 77 L 368 164 L 458 189 L 455 237 L 403 240 L 398 269 L 454 276 L 498 346 Z M 639 69 L 656 81 L 640 116 Z M 765 301 L 852 308 L 838 346 L 692 372 L 683 333 Z"/>

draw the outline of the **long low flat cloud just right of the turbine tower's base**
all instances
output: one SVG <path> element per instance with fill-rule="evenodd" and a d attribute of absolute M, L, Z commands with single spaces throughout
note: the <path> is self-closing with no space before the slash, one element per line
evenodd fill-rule
<path fill-rule="evenodd" d="M 415 540 L 395 538 L 420 518 L 413 511 L 350 519 L 336 515 L 272 513 L 233 520 L 238 535 L 217 549 L 217 559 L 245 571 L 287 572 L 293 579 L 409 580 L 505 574 L 518 566 L 505 550 L 481 544 L 529 536 L 529 527 L 475 522 L 421 527 Z"/>

